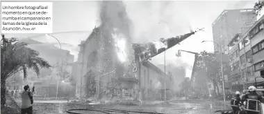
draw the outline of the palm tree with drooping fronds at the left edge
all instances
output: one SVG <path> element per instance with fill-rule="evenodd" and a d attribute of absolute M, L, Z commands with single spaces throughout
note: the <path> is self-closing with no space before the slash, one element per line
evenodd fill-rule
<path fill-rule="evenodd" d="M 27 77 L 27 70 L 33 69 L 40 75 L 40 68 L 51 67 L 49 63 L 38 57 L 36 50 L 27 47 L 27 44 L 19 42 L 15 38 L 6 39 L 1 35 L 1 106 L 6 104 L 6 79 L 22 71 L 24 79 Z"/>

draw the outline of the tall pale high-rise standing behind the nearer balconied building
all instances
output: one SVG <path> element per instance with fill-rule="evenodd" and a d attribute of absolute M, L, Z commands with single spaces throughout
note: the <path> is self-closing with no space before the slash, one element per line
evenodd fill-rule
<path fill-rule="evenodd" d="M 247 28 L 247 22 L 256 20 L 253 9 L 224 10 L 219 17 L 213 22 L 213 41 L 221 48 L 214 44 L 215 52 L 224 52 L 228 54 L 228 43 L 242 29 Z M 249 24 L 250 25 L 250 24 Z"/>

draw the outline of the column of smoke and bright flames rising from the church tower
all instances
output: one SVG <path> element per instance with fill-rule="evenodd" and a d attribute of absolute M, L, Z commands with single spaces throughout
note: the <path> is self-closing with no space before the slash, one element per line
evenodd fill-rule
<path fill-rule="evenodd" d="M 106 42 L 106 44 L 112 47 L 110 51 L 114 54 L 112 60 L 115 63 L 115 75 L 122 76 L 127 72 L 129 64 L 131 64 L 128 60 L 134 58 L 134 56 L 130 56 L 131 54 L 133 55 L 133 50 L 130 50 L 131 20 L 126 13 L 124 3 L 122 1 L 101 1 L 100 19 L 101 28 L 103 29 L 104 34 L 107 34 L 106 39 L 111 42 Z M 115 47 L 115 44 L 119 44 L 117 41 L 120 40 L 124 41 L 125 49 Z M 115 50 L 119 53 L 116 53 Z M 121 61 L 119 58 L 122 56 L 120 53 L 123 53 L 124 59 L 126 59 L 125 62 Z"/>

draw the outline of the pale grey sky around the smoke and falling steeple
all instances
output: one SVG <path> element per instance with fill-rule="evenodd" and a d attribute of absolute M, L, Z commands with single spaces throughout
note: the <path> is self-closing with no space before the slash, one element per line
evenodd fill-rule
<path fill-rule="evenodd" d="M 166 51 L 166 64 L 188 64 L 192 67 L 194 55 L 185 53 L 175 57 L 177 50 L 213 52 L 212 23 L 223 10 L 253 8 L 256 1 L 124 1 L 126 12 L 133 23 L 132 39 L 134 43 L 147 43 L 161 37 L 170 38 L 205 28 L 197 32 L 180 45 Z M 79 53 L 78 44 L 87 39 L 99 19 L 98 1 L 53 1 L 53 36 L 62 48 L 70 50 L 75 60 Z M 57 32 L 85 31 L 56 34 Z M 34 37 L 39 36 L 39 37 Z M 37 41 L 50 42 L 59 46 L 56 39 L 44 34 L 7 34 L 6 37 L 31 37 Z M 183 62 L 182 62 L 183 61 Z M 153 64 L 164 64 L 164 54 L 152 58 Z M 190 74 L 187 71 L 187 74 Z M 186 75 L 187 75 L 186 74 Z"/>

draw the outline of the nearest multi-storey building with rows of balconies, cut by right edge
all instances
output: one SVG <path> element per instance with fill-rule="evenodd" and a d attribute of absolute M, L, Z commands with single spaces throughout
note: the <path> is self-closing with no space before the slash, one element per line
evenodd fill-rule
<path fill-rule="evenodd" d="M 246 32 L 236 34 L 228 44 L 233 91 L 254 85 L 255 77 L 260 77 L 259 70 L 264 68 L 263 21 L 264 17 L 261 17 Z"/>

